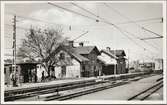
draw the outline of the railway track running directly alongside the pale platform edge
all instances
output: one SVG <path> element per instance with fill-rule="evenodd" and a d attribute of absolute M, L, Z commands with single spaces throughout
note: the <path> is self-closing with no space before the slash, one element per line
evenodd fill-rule
<path fill-rule="evenodd" d="M 8 90 L 8 91 L 5 91 L 5 101 L 14 101 L 17 99 L 33 97 L 33 96 L 54 93 L 54 92 L 58 93 L 60 91 L 82 88 L 82 87 L 91 86 L 91 85 L 98 85 L 101 83 L 107 83 L 108 81 L 111 82 L 116 80 L 123 80 L 124 83 L 126 83 L 127 79 L 134 81 L 134 80 L 140 79 L 135 77 L 147 76 L 148 74 L 149 73 L 142 72 L 142 73 L 102 76 L 97 79 L 81 80 L 81 81 L 75 81 L 70 83 L 39 86 L 39 87 L 32 87 L 32 88 L 23 88 L 23 89 L 16 89 L 16 90 Z M 101 79 L 101 81 L 97 81 L 99 79 Z M 105 89 L 105 87 L 101 87 L 100 89 Z"/>

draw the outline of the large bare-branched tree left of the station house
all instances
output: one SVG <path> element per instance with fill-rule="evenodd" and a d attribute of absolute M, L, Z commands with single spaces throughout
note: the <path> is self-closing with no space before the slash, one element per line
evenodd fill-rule
<path fill-rule="evenodd" d="M 62 37 L 62 35 L 61 27 L 44 30 L 31 28 L 26 34 L 26 38 L 23 39 L 18 55 L 28 57 L 32 61 L 35 61 L 34 58 L 40 58 L 46 71 L 49 71 L 49 66 L 53 66 L 58 61 L 55 56 L 56 48 L 67 41 L 67 38 Z"/>

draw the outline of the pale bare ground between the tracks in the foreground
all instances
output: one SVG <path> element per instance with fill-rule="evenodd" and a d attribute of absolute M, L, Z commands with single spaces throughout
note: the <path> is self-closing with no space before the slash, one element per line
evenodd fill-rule
<path fill-rule="evenodd" d="M 115 86 L 113 88 L 109 88 L 109 89 L 105 89 L 102 91 L 98 91 L 95 93 L 90 93 L 90 94 L 86 94 L 83 96 L 79 96 L 79 97 L 74 97 L 72 99 L 69 100 L 127 100 L 129 97 L 134 96 L 137 93 L 140 93 L 141 91 L 149 88 L 150 86 L 152 86 L 153 84 L 155 84 L 157 82 L 157 80 L 159 78 L 161 78 L 162 75 L 154 75 L 154 76 L 149 76 L 143 79 L 140 79 L 138 81 L 131 81 L 128 84 L 124 84 L 121 86 Z M 110 83 L 106 83 L 106 84 L 98 84 L 96 85 L 96 88 L 101 87 L 101 86 L 107 86 Z M 60 91 L 59 94 L 62 96 L 66 96 L 66 95 L 71 95 L 71 94 L 75 94 L 75 93 L 79 93 L 82 91 L 86 91 L 86 90 L 90 90 L 90 89 L 94 89 L 94 86 L 86 86 L 86 87 L 82 87 L 82 88 L 76 88 L 76 89 L 71 89 L 71 90 L 65 90 L 65 91 Z M 161 89 L 162 90 L 162 89 Z M 24 98 L 24 99 L 19 99 L 17 101 L 55 101 L 54 100 L 50 100 L 49 97 L 54 97 L 57 96 L 57 93 L 48 93 L 48 94 L 43 94 L 43 95 L 39 95 L 39 96 L 34 96 L 34 97 L 30 97 L 30 98 Z M 155 100 L 162 100 L 162 91 L 160 92 L 160 94 L 158 94 L 158 98 L 156 97 Z M 151 99 L 150 99 L 151 100 Z"/>

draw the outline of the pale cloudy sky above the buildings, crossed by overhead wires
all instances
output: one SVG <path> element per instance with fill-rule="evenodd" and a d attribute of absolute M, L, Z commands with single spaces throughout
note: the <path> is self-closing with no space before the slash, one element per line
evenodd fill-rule
<path fill-rule="evenodd" d="M 52 2 L 58 6 L 71 9 L 86 16 L 97 18 L 92 14 L 76 7 L 71 2 Z M 4 9 L 5 23 L 5 54 L 12 54 L 12 18 L 13 14 L 17 17 L 17 48 L 21 44 L 21 39 L 25 38 L 27 28 L 42 27 L 55 28 L 57 25 L 63 27 L 64 37 L 71 40 L 88 31 L 76 42 L 85 41 L 85 46 L 97 46 L 99 50 L 110 47 L 111 49 L 125 50 L 126 57 L 132 60 L 152 60 L 162 58 L 163 39 L 152 39 L 146 42 L 138 38 L 155 37 L 154 34 L 144 31 L 141 26 L 163 35 L 163 24 L 161 20 L 150 20 L 137 23 L 121 24 L 127 21 L 143 20 L 150 18 L 161 18 L 162 4 L 160 3 L 111 3 L 111 2 L 73 2 L 83 7 L 97 16 L 113 23 L 123 31 L 120 32 L 112 25 L 104 23 L 102 20 L 96 22 L 83 16 L 65 11 L 45 3 L 6 3 Z M 116 12 L 116 11 L 117 12 Z M 20 16 L 20 17 L 19 17 Z M 24 17 L 24 18 L 23 18 Z M 26 18 L 25 18 L 26 17 Z M 28 19 L 27 19 L 28 17 Z M 34 21 L 29 18 L 42 20 Z M 71 30 L 69 27 L 71 26 Z M 20 28 L 19 28 L 20 27 Z M 23 29 L 26 28 L 26 29 Z M 131 34 L 127 34 L 128 31 Z M 129 39 L 130 38 L 130 39 Z M 77 46 L 78 43 L 75 43 Z M 144 50 L 145 48 L 145 50 Z M 11 56 L 5 56 L 9 58 Z"/>

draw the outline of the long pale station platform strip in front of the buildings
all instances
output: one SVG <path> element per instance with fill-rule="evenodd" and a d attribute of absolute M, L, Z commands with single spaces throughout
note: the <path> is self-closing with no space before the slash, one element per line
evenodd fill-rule
<path fill-rule="evenodd" d="M 49 82 L 40 82 L 40 83 L 22 83 L 18 87 L 12 87 L 12 86 L 6 86 L 5 85 L 5 91 L 15 91 L 15 90 L 25 90 L 25 89 L 32 89 L 32 88 L 38 88 L 38 87 L 47 87 L 52 85 L 61 85 L 61 84 L 70 84 L 75 82 L 84 82 L 84 81 L 91 81 L 91 80 L 99 80 L 99 79 L 108 79 L 113 77 L 125 77 L 128 78 L 128 76 L 131 75 L 143 75 L 144 73 L 127 73 L 127 74 L 117 74 L 117 75 L 106 75 L 106 76 L 97 76 L 97 77 L 89 77 L 89 78 L 64 78 L 64 79 L 56 79 Z"/>

